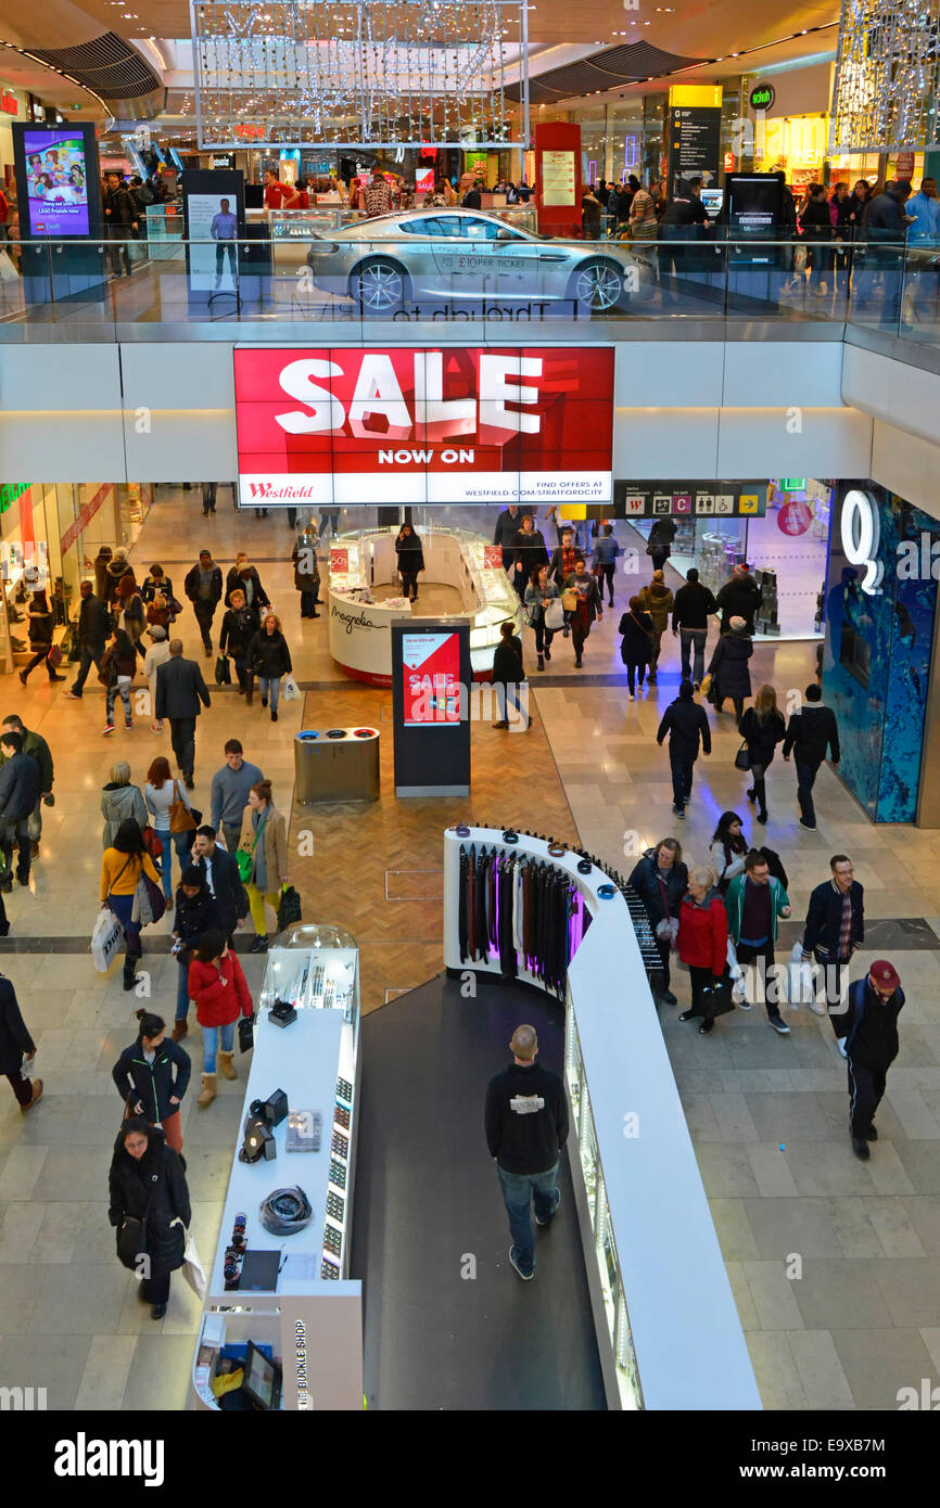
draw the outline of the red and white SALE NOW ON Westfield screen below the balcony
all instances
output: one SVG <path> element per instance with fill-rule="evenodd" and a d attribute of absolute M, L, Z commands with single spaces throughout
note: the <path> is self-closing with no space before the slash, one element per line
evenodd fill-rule
<path fill-rule="evenodd" d="M 240 347 L 241 507 L 610 502 L 613 347 Z"/>

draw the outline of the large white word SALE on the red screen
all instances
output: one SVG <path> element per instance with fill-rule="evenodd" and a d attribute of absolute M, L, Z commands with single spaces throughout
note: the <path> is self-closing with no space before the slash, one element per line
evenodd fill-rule
<path fill-rule="evenodd" d="M 542 377 L 540 356 L 481 351 L 478 392 L 460 398 L 445 397 L 442 351 L 413 351 L 412 357 L 410 400 L 401 389 L 388 351 L 350 351 L 344 366 L 320 356 L 288 362 L 278 382 L 303 407 L 276 413 L 275 419 L 287 434 L 349 434 L 373 440 L 376 436 L 438 440 L 451 434 L 477 434 L 481 427 L 508 434 L 539 434 L 542 430 L 542 415 L 525 412 L 539 403 L 539 388 L 525 379 Z M 350 379 L 355 374 L 349 409 L 329 386 L 332 379 L 346 379 L 347 374 Z M 519 407 L 510 409 L 508 404 Z"/>

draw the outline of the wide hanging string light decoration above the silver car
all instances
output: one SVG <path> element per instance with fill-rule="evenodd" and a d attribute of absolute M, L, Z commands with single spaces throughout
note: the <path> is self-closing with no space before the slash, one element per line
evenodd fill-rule
<path fill-rule="evenodd" d="M 521 146 L 525 0 L 190 0 L 204 149 Z M 507 78 L 522 89 L 505 100 Z"/>

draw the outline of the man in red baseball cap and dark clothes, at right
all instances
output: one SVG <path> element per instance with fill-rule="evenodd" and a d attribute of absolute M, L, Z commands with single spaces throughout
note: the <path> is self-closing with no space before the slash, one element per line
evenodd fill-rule
<path fill-rule="evenodd" d="M 862 1161 L 871 1155 L 868 1143 L 878 1140 L 875 1111 L 884 1095 L 887 1071 L 898 1057 L 898 1015 L 902 1006 L 898 970 L 880 958 L 866 979 L 849 985 L 845 1013 L 833 1016 L 848 1062 L 852 1152 Z"/>

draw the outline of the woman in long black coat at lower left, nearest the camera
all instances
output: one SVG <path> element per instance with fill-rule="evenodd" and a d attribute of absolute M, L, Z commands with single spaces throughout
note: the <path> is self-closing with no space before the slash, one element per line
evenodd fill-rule
<path fill-rule="evenodd" d="M 170 1276 L 183 1267 L 192 1220 L 180 1154 L 166 1145 L 163 1131 L 131 1116 L 115 1140 L 107 1185 L 118 1258 L 131 1271 L 146 1274 L 140 1298 L 151 1306 L 152 1320 L 163 1320 Z"/>

